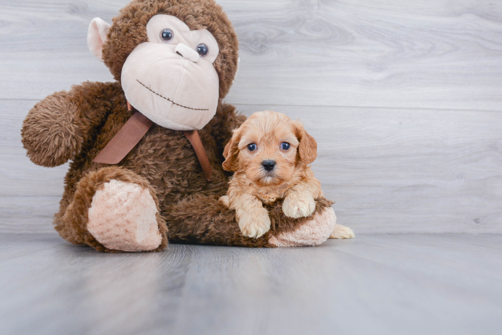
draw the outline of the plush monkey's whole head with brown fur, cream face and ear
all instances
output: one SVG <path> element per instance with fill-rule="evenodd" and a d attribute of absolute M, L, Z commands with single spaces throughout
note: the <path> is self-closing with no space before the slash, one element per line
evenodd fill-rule
<path fill-rule="evenodd" d="M 170 129 L 202 129 L 237 72 L 237 36 L 213 0 L 134 0 L 112 25 L 93 19 L 87 40 L 131 105 Z"/>

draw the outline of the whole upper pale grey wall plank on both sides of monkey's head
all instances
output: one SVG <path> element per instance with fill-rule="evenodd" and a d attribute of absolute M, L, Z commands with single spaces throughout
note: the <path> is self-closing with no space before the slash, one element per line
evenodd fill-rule
<path fill-rule="evenodd" d="M 0 99 L 111 79 L 90 20 L 127 0 L 0 4 Z M 240 40 L 232 103 L 502 109 L 502 3 L 219 0 Z"/>

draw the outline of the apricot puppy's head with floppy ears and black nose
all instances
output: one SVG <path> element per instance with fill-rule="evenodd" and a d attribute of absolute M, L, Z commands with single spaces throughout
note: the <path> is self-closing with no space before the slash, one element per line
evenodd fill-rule
<path fill-rule="evenodd" d="M 234 130 L 223 152 L 223 168 L 242 172 L 259 185 L 277 185 L 316 156 L 317 142 L 300 122 L 275 111 L 259 111 Z"/>

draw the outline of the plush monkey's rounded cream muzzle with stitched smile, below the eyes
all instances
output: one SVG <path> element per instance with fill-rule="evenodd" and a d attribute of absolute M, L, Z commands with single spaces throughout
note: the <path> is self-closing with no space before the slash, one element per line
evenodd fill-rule
<path fill-rule="evenodd" d="M 145 42 L 134 49 L 122 68 L 127 100 L 147 118 L 169 129 L 202 129 L 218 106 L 218 73 L 213 63 L 187 48 L 182 43 Z M 176 49 L 181 49 L 179 54 Z M 194 53 L 197 62 L 191 60 Z"/>

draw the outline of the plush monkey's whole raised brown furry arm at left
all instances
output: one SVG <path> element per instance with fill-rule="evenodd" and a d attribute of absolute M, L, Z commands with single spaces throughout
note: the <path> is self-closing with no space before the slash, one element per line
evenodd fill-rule
<path fill-rule="evenodd" d="M 47 167 L 66 163 L 80 152 L 116 101 L 117 83 L 85 82 L 38 102 L 28 113 L 21 136 L 30 160 Z"/>

